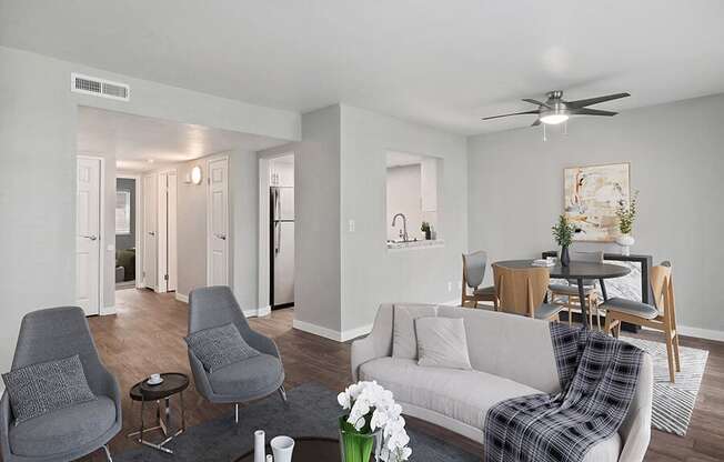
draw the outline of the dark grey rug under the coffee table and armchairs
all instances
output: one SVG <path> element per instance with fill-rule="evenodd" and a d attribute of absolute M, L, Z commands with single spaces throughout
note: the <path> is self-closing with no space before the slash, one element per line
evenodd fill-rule
<path fill-rule="evenodd" d="M 224 461 L 231 462 L 250 451 L 253 446 L 253 432 L 263 429 L 267 439 L 278 434 L 296 436 L 338 438 L 336 419 L 341 409 L 336 393 L 315 383 L 305 383 L 288 393 L 289 408 L 284 408 L 278 394 L 255 402 L 240 410 L 240 423 L 233 422 L 233 410 L 229 415 L 189 428 L 169 449 L 173 455 L 151 448 L 129 450 L 114 455 L 115 462 L 143 461 Z M 158 433 L 158 432 L 157 432 Z M 480 461 L 481 456 L 471 454 L 436 438 L 413 429 L 408 429 L 412 461 L 420 462 L 466 462 Z M 159 436 L 154 434 L 153 436 Z M 325 462 L 325 461 L 320 461 Z"/>

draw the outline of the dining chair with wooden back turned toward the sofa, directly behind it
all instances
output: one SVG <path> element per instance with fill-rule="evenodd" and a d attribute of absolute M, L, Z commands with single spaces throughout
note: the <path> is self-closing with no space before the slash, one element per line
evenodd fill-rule
<path fill-rule="evenodd" d="M 493 264 L 500 310 L 530 318 L 557 321 L 561 304 L 545 303 L 551 274 L 547 268 L 506 268 Z"/>

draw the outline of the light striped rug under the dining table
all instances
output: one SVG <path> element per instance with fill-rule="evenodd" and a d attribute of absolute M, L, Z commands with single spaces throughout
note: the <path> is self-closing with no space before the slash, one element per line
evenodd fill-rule
<path fill-rule="evenodd" d="M 654 360 L 654 399 L 651 424 L 654 429 L 683 436 L 694 412 L 708 351 L 680 346 L 681 372 L 676 382 L 668 381 L 666 344 L 650 340 L 621 338 L 648 352 Z"/>

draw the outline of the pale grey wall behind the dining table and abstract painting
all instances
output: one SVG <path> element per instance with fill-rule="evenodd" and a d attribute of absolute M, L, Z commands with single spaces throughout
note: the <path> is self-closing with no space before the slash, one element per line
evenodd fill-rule
<path fill-rule="evenodd" d="M 724 331 L 723 114 L 720 94 L 577 118 L 547 142 L 530 128 L 471 138 L 470 249 L 493 261 L 553 249 L 563 169 L 631 162 L 632 188 L 641 190 L 632 251 L 673 262 L 680 325 Z"/>

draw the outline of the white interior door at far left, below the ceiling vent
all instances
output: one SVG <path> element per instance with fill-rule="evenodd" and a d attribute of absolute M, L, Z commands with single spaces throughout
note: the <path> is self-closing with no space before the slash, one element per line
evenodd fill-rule
<path fill-rule="evenodd" d="M 101 310 L 101 161 L 78 158 L 76 298 L 86 315 Z"/>

